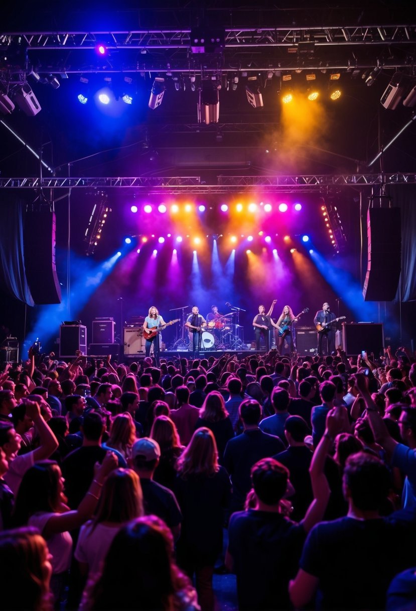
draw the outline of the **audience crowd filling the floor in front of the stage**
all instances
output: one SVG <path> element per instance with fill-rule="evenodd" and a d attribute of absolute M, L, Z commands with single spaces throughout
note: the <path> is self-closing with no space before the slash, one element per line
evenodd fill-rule
<path fill-rule="evenodd" d="M 415 532 L 406 348 L 0 371 L 2 609 L 414 610 Z"/>

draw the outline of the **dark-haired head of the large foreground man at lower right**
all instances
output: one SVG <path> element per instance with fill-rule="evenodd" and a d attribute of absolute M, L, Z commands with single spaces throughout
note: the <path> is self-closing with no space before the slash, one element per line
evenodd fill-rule
<path fill-rule="evenodd" d="M 392 483 L 386 465 L 376 456 L 365 452 L 347 458 L 343 481 L 355 507 L 362 511 L 378 511 Z"/>

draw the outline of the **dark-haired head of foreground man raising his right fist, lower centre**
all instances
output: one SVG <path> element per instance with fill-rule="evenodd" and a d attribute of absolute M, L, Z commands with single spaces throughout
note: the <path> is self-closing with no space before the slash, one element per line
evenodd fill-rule
<path fill-rule="evenodd" d="M 277 505 L 287 488 L 289 470 L 274 458 L 262 458 L 251 467 L 251 481 L 257 498 L 265 505 Z"/>

